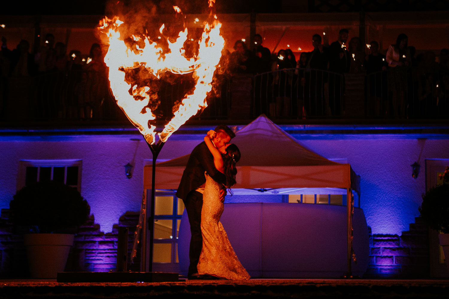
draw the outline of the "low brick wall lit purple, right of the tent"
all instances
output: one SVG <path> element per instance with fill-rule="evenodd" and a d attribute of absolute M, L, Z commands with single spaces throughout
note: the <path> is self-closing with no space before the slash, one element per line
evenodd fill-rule
<path fill-rule="evenodd" d="M 427 278 L 430 276 L 429 233 L 419 217 L 409 231 L 397 234 L 371 234 L 370 261 L 366 277 Z"/>

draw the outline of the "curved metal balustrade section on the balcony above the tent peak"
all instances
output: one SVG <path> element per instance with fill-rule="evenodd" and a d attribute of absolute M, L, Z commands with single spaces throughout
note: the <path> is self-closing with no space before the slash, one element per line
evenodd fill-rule
<path fill-rule="evenodd" d="M 321 69 L 280 69 L 254 76 L 253 116 L 342 117 L 344 77 Z"/>

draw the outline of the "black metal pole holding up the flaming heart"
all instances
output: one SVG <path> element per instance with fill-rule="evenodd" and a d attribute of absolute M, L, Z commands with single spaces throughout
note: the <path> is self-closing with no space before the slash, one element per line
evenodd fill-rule
<path fill-rule="evenodd" d="M 163 142 L 161 139 L 159 139 L 158 143 L 156 144 L 150 144 L 148 141 L 146 141 L 146 144 L 148 144 L 148 147 L 150 147 L 151 153 L 153 153 L 153 168 L 151 169 L 151 205 L 150 205 L 150 217 L 148 217 L 148 201 L 146 204 L 146 213 L 145 217 L 143 219 L 142 223 L 142 265 L 143 265 L 143 272 L 152 272 L 153 270 L 153 238 L 154 238 L 154 199 L 155 199 L 155 177 L 156 177 L 156 160 L 158 159 L 159 152 L 161 152 L 162 147 L 164 146 L 165 142 Z M 148 221 L 147 221 L 148 219 Z M 147 223 L 148 222 L 148 223 Z M 146 269 L 146 231 L 147 231 L 147 225 L 148 230 L 150 230 L 150 261 L 149 261 L 149 268 Z"/>

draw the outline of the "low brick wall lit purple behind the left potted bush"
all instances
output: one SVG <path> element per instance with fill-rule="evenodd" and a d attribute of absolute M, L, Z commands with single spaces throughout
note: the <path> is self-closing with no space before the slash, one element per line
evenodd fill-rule
<path fill-rule="evenodd" d="M 0 216 L 0 277 L 29 277 L 26 248 L 23 236 L 14 234 L 13 227 L 8 221 L 8 209 L 1 210 Z M 140 246 L 134 263 L 130 263 L 134 231 L 136 230 L 138 212 L 127 212 L 113 226 L 111 233 L 100 231 L 93 216 L 79 228 L 75 235 L 74 246 L 70 249 L 66 264 L 66 271 L 108 272 L 115 271 L 117 262 L 118 227 L 129 228 L 128 233 L 128 270 L 140 270 Z"/>

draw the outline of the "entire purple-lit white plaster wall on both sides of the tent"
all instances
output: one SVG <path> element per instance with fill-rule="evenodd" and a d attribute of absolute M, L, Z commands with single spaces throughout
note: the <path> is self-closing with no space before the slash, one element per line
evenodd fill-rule
<path fill-rule="evenodd" d="M 143 139 L 137 142 L 132 138 L 141 136 L 0 139 L 0 208 L 9 208 L 16 192 L 19 160 L 81 159 L 81 194 L 88 200 L 101 230 L 110 232 L 124 212 L 140 209 L 144 160 L 152 159 Z M 299 138 L 300 143 L 321 156 L 347 159 L 361 176 L 361 208 L 373 234 L 401 234 L 409 230 L 409 223 L 419 215 L 421 193 L 425 191 L 424 160 L 449 158 L 449 140 L 388 136 L 379 139 L 366 135 L 352 139 Z M 158 160 L 188 154 L 201 141 L 202 135 L 173 135 Z M 411 176 L 410 165 L 414 161 L 421 165 L 417 179 Z M 126 178 L 123 167 L 128 162 L 134 165 L 131 179 Z"/>

